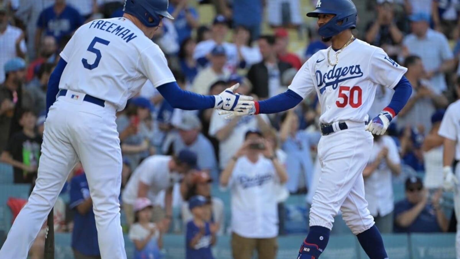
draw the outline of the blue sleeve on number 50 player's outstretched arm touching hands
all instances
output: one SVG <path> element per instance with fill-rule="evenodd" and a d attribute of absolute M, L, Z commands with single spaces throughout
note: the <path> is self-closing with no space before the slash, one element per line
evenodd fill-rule
<path fill-rule="evenodd" d="M 277 113 L 287 111 L 297 106 L 303 98 L 293 90 L 275 95 L 267 100 L 256 102 L 256 114 L 259 113 Z"/>

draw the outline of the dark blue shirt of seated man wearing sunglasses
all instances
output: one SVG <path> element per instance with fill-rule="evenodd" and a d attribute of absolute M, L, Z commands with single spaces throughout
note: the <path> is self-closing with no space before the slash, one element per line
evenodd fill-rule
<path fill-rule="evenodd" d="M 402 228 L 396 224 L 396 218 L 399 214 L 412 209 L 415 204 L 410 203 L 407 199 L 401 200 L 395 204 L 394 211 L 394 232 L 397 233 L 414 233 L 414 232 L 442 232 L 437 224 L 436 212 L 431 205 L 426 205 L 420 212 L 419 216 L 408 228 Z"/>

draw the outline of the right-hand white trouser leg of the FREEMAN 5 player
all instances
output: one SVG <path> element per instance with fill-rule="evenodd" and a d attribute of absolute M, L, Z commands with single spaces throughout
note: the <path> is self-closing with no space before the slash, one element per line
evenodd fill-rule
<path fill-rule="evenodd" d="M 80 107 L 72 125 L 72 144 L 88 180 L 103 259 L 126 259 L 120 223 L 121 149 L 115 112 L 96 105 Z"/>

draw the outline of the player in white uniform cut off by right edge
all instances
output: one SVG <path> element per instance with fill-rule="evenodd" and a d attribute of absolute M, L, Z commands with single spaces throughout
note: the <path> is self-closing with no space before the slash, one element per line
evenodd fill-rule
<path fill-rule="evenodd" d="M 443 121 L 439 127 L 438 134 L 444 137 L 443 147 L 443 187 L 446 190 L 454 191 L 454 209 L 457 217 L 457 236 L 455 247 L 457 259 L 460 259 L 460 77 L 457 79 L 457 96 L 455 101 L 447 108 L 444 113 Z M 456 163 L 455 168 L 452 167 Z"/>

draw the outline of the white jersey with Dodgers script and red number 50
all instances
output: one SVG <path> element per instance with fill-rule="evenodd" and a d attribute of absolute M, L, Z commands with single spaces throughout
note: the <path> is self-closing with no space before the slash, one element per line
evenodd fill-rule
<path fill-rule="evenodd" d="M 380 47 L 355 39 L 339 53 L 339 63 L 328 63 L 328 49 L 320 50 L 300 68 L 289 89 L 303 98 L 316 89 L 321 104 L 320 123 L 368 121 L 375 91 L 393 89 L 407 69 L 390 59 Z M 330 57 L 335 63 L 335 51 Z"/>

